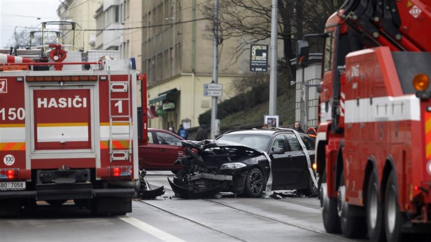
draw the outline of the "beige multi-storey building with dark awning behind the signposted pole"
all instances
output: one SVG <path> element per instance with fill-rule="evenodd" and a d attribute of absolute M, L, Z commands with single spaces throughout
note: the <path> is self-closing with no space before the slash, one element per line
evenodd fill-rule
<path fill-rule="evenodd" d="M 142 2 L 142 72 L 147 75 L 148 105 L 155 118 L 149 126 L 168 129 L 198 126 L 198 116 L 211 108 L 204 84 L 213 73 L 213 23 L 200 13 L 204 0 L 153 0 Z M 219 45 L 218 83 L 223 85 L 218 100 L 231 98 L 230 83 L 247 75 L 248 55 L 232 62 L 233 44 Z"/>

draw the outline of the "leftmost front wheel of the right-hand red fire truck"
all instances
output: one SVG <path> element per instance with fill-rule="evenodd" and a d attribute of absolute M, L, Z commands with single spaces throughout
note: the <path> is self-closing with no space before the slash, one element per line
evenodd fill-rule
<path fill-rule="evenodd" d="M 322 185 L 319 192 L 320 204 L 322 205 L 322 217 L 326 232 L 335 234 L 341 232 L 340 219 L 337 214 L 337 198 L 328 198 L 328 187 L 326 186 L 326 172 L 322 176 Z"/>

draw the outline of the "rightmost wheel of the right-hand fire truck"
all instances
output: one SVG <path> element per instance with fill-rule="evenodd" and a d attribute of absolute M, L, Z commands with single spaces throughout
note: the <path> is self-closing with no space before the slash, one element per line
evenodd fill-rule
<path fill-rule="evenodd" d="M 404 213 L 397 205 L 398 187 L 395 170 L 389 174 L 386 192 L 384 193 L 384 230 L 388 241 L 402 241 L 401 226 L 406 221 Z"/>

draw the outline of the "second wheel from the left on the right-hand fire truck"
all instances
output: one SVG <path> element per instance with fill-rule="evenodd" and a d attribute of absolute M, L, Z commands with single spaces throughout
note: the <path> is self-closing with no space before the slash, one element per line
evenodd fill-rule
<path fill-rule="evenodd" d="M 347 238 L 363 238 L 367 234 L 365 217 L 353 216 L 353 206 L 345 200 L 344 172 L 341 173 L 337 196 L 337 212 L 340 217 L 341 232 Z"/>

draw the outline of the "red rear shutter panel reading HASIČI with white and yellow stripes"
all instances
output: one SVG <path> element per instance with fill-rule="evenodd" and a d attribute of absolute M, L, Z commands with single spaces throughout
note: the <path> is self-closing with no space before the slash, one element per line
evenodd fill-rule
<path fill-rule="evenodd" d="M 92 85 L 31 87 L 32 152 L 94 152 Z"/>

